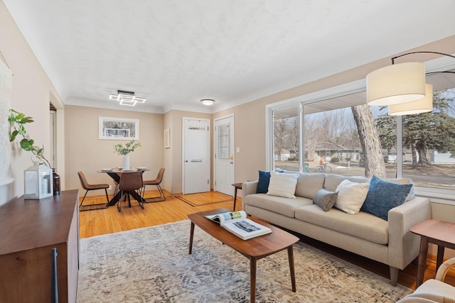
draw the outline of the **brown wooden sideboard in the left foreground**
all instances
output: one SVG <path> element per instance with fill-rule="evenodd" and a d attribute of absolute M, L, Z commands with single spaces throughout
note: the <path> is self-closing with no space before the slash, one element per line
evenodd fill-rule
<path fill-rule="evenodd" d="M 58 302 L 76 302 L 79 270 L 78 190 L 0 206 L 0 302 L 51 302 L 57 249 Z"/>

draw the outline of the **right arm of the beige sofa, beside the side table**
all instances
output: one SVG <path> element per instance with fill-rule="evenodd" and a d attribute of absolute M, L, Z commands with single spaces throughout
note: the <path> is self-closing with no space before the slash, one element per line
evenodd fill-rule
<path fill-rule="evenodd" d="M 420 237 L 410 227 L 432 219 L 428 198 L 416 197 L 389 211 L 389 265 L 404 269 L 419 255 Z"/>

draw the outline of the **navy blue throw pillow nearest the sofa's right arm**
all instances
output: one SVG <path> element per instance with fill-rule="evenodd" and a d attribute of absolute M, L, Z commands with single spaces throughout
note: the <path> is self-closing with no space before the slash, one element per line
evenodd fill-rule
<path fill-rule="evenodd" d="M 390 209 L 406 201 L 412 184 L 387 182 L 373 175 L 368 194 L 360 211 L 365 211 L 387 221 Z"/>

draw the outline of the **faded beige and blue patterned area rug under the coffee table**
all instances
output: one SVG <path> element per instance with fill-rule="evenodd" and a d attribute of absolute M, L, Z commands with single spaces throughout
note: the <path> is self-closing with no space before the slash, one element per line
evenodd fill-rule
<path fill-rule="evenodd" d="M 190 221 L 80 240 L 77 302 L 249 302 L 250 262 Z M 256 302 L 396 302 L 412 290 L 303 243 L 257 262 Z"/>

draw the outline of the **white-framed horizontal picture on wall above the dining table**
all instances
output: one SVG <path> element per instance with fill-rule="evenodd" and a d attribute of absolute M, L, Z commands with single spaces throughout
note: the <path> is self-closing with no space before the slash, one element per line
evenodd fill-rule
<path fill-rule="evenodd" d="M 139 120 L 100 117 L 100 139 L 139 140 Z"/>

